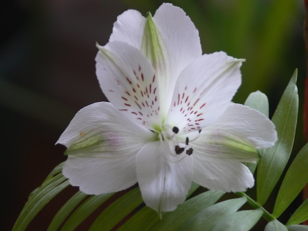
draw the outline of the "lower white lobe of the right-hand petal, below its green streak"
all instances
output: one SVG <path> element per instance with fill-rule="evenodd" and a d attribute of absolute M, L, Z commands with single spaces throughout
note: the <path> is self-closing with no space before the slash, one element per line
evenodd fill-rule
<path fill-rule="evenodd" d="M 250 170 L 236 160 L 212 158 L 195 152 L 193 181 L 203 187 L 225 192 L 241 192 L 254 185 Z"/>

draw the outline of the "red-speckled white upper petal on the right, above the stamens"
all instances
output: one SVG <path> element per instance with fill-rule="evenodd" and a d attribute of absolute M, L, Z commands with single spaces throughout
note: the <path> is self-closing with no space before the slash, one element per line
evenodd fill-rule
<path fill-rule="evenodd" d="M 213 123 L 241 85 L 242 61 L 216 52 L 187 66 L 177 81 L 166 123 L 177 126 L 180 132 Z"/>

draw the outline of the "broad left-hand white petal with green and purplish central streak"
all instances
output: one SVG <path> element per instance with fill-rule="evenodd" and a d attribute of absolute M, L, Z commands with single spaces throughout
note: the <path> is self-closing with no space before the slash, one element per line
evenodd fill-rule
<path fill-rule="evenodd" d="M 135 155 L 153 133 L 130 121 L 110 103 L 81 109 L 57 144 L 67 147 L 63 174 L 87 194 L 123 190 L 137 182 Z"/>

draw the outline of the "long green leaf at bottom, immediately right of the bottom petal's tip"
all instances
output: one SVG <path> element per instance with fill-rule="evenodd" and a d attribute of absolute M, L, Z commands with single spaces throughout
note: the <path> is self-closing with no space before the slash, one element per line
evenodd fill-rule
<path fill-rule="evenodd" d="M 222 191 L 210 190 L 195 196 L 179 205 L 175 211 L 166 213 L 162 220 L 159 220 L 154 224 L 151 230 L 178 230 L 187 219 L 202 209 L 213 205 L 223 194 L 224 192 Z"/>

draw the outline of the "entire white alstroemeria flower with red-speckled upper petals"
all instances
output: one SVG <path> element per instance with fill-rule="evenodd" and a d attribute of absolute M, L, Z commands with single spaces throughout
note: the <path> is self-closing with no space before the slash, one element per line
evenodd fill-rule
<path fill-rule="evenodd" d="M 97 47 L 110 103 L 81 109 L 57 142 L 72 185 L 97 195 L 138 182 L 158 213 L 184 202 L 191 181 L 225 192 L 254 185 L 242 162 L 255 162 L 277 134 L 266 116 L 231 102 L 243 59 L 202 55 L 198 30 L 169 3 L 153 17 L 125 11 Z"/>

